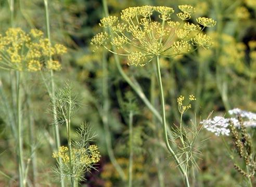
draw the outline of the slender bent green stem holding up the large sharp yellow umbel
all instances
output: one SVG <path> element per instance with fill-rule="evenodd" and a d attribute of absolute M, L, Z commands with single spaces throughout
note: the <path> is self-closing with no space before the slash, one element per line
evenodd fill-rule
<path fill-rule="evenodd" d="M 159 84 L 159 87 L 160 87 L 160 99 L 161 99 L 164 142 L 165 142 L 165 145 L 167 146 L 167 149 L 172 154 L 178 168 L 180 169 L 181 173 L 183 174 L 184 182 L 185 182 L 186 186 L 189 187 L 189 181 L 188 181 L 187 173 L 184 171 L 184 169 L 182 167 L 182 164 L 180 163 L 179 159 L 177 158 L 176 154 L 174 153 L 174 151 L 172 150 L 172 148 L 169 144 L 168 135 L 167 135 L 167 124 L 166 124 L 166 121 L 165 121 L 165 109 L 164 109 L 165 104 L 164 104 L 164 95 L 163 95 L 163 86 L 162 86 L 162 80 L 161 80 L 159 56 L 157 56 L 156 58 L 157 58 L 157 62 L 156 62 L 157 63 L 157 77 L 158 77 L 158 84 Z"/>

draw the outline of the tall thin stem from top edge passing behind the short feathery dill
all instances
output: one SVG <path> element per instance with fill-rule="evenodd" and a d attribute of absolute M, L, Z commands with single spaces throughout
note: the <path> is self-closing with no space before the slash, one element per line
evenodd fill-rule
<path fill-rule="evenodd" d="M 51 38 L 50 38 L 50 21 L 49 21 L 49 8 L 48 8 L 48 0 L 44 0 L 44 7 L 45 7 L 45 19 L 46 19 L 46 30 L 47 30 L 47 37 L 49 40 L 49 45 L 51 45 Z M 52 57 L 49 57 L 49 60 L 52 60 Z M 50 86 L 52 92 L 49 92 L 50 98 L 53 102 L 53 113 L 54 113 L 54 122 L 57 122 L 57 111 L 56 111 L 56 100 L 55 100 L 55 82 L 54 82 L 54 72 L 50 70 Z M 60 136 L 59 136 L 59 126 L 58 124 L 54 124 L 54 137 L 55 137 L 55 150 L 58 150 L 60 147 Z M 61 158 L 58 158 L 58 162 L 60 163 L 60 167 L 62 166 Z M 64 180 L 62 179 L 62 169 L 60 173 L 61 179 L 61 187 L 65 187 Z"/>

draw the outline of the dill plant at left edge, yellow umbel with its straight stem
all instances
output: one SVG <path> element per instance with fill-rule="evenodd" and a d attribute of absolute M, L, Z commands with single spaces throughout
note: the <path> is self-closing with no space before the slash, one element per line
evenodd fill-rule
<path fill-rule="evenodd" d="M 43 37 L 43 32 L 32 29 L 26 33 L 21 28 L 10 28 L 4 35 L 0 35 L 0 69 L 15 71 L 16 93 L 16 129 L 17 129 L 17 154 L 19 158 L 20 186 L 25 185 L 25 166 L 23 158 L 23 125 L 22 125 L 22 98 L 21 78 L 22 72 L 36 72 L 43 69 L 56 70 L 59 62 L 47 61 L 49 54 L 62 55 L 66 48 L 60 44 L 49 47 L 48 39 Z"/>

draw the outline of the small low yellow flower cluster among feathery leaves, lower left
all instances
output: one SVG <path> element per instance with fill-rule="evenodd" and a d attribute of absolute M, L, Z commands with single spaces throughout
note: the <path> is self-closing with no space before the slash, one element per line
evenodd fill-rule
<path fill-rule="evenodd" d="M 67 146 L 60 146 L 58 152 L 53 153 L 54 158 L 61 158 L 64 164 L 69 165 L 69 149 Z M 71 164 L 72 165 L 93 165 L 99 162 L 100 153 L 97 145 L 89 145 L 88 150 L 85 148 L 71 150 Z"/>

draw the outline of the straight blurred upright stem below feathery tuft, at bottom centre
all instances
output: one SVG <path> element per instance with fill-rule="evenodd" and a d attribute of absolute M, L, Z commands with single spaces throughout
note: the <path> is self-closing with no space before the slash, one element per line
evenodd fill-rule
<path fill-rule="evenodd" d="M 132 187 L 133 182 L 133 112 L 130 111 L 129 114 L 129 187 Z"/>

